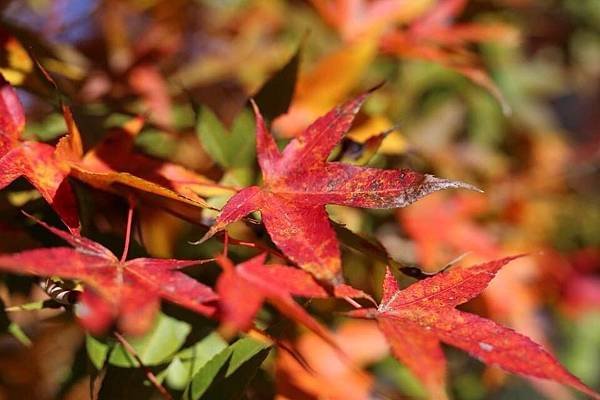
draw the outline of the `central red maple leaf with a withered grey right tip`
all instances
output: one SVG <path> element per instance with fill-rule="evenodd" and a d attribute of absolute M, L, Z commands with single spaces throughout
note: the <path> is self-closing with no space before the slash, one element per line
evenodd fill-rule
<path fill-rule="evenodd" d="M 476 190 L 466 183 L 407 169 L 383 170 L 327 162 L 366 96 L 358 96 L 317 119 L 283 152 L 255 106 L 263 186 L 249 187 L 234 195 L 202 240 L 245 215 L 260 211 L 271 239 L 290 260 L 321 281 L 339 284 L 343 281 L 340 250 L 326 204 L 396 208 L 437 190 Z"/>

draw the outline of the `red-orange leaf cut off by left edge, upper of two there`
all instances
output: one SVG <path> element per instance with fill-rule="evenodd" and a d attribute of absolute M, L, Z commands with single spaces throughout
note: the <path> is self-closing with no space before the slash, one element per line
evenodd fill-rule
<path fill-rule="evenodd" d="M 27 179 L 54 208 L 71 232 L 79 232 L 77 202 L 68 170 L 45 143 L 22 141 L 25 113 L 17 93 L 0 75 L 0 189 L 19 177 Z"/>

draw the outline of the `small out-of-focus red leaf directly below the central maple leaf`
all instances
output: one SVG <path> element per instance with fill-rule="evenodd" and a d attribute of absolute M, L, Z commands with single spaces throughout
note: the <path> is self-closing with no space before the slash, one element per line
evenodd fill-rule
<path fill-rule="evenodd" d="M 292 296 L 327 298 L 330 294 L 308 273 L 285 265 L 264 265 L 265 254 L 234 266 L 225 257 L 217 259 L 223 273 L 217 282 L 219 312 L 227 329 L 247 330 L 262 303 L 273 304 L 283 315 L 306 326 L 323 339 L 331 341 L 325 330 Z M 333 291 L 335 297 L 370 296 L 347 285 Z"/>

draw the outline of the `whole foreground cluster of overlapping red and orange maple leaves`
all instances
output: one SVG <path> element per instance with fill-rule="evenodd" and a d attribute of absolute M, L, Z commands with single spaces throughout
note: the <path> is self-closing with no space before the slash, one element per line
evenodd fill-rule
<path fill-rule="evenodd" d="M 355 305 L 347 317 L 377 321 L 393 355 L 423 382 L 432 398 L 446 397 L 446 361 L 440 342 L 507 371 L 551 379 L 600 398 L 529 338 L 455 308 L 478 296 L 514 257 L 470 268 L 453 267 L 406 289 L 399 287 L 388 268 L 379 303 L 344 284 L 339 243 L 325 208 L 327 204 L 398 208 L 434 191 L 476 190 L 466 183 L 408 169 L 377 169 L 328 161 L 368 93 L 318 118 L 282 150 L 267 130 L 258 106 L 253 104 L 262 185 L 235 193 L 199 242 L 250 213 L 260 212 L 272 242 L 293 265 L 266 264 L 265 253 L 236 266 L 220 255 L 216 261 L 222 272 L 213 289 L 182 271 L 211 260 L 127 260 L 127 250 L 136 204 L 156 205 L 194 220 L 208 207 L 198 194 L 201 188 L 219 185 L 183 167 L 134 153 L 132 140 L 140 129 L 139 120 L 133 120 L 84 154 L 77 125 L 69 108 L 64 107 L 68 135 L 56 148 L 22 141 L 23 108 L 15 90 L 6 81 L 1 85 L 0 186 L 25 177 L 56 210 L 70 233 L 36 222 L 71 247 L 3 254 L 0 268 L 17 274 L 80 281 L 84 290 L 75 307 L 76 315 L 89 331 L 102 333 L 116 323 L 118 331 L 142 334 L 151 327 L 161 299 L 219 320 L 224 332 L 250 331 L 254 329 L 256 314 L 267 301 L 342 351 L 328 329 L 294 299 L 334 297 Z M 130 202 L 125 249 L 120 259 L 101 244 L 81 236 L 77 202 L 68 177 L 121 195 Z"/>

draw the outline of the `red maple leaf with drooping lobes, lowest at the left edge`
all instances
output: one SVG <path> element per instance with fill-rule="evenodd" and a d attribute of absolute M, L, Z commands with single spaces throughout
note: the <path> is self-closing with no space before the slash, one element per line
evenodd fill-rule
<path fill-rule="evenodd" d="M 101 333 L 116 319 L 123 332 L 142 334 L 151 327 L 161 298 L 203 315 L 214 313 L 210 303 L 217 295 L 179 271 L 201 261 L 153 258 L 119 261 L 99 243 L 38 223 L 72 247 L 0 255 L 0 269 L 81 280 L 86 286 L 77 314 L 88 330 Z"/>

